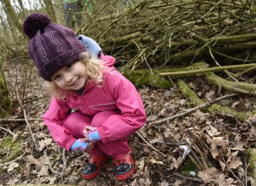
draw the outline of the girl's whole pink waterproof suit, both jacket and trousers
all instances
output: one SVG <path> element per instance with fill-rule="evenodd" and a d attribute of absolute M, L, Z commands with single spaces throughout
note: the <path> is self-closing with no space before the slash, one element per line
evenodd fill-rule
<path fill-rule="evenodd" d="M 133 84 L 115 70 L 115 58 L 102 54 L 101 60 L 107 66 L 103 86 L 89 80 L 82 95 L 69 91 L 65 99 L 52 97 L 43 121 L 54 141 L 68 151 L 78 138 L 84 138 L 85 125 L 97 126 L 102 141 L 90 153 L 119 156 L 130 150 L 125 137 L 145 124 L 146 114 Z"/>

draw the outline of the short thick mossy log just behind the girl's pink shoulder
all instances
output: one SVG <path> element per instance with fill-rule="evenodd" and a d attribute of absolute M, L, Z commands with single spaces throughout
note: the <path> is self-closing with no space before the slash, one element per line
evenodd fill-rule
<path fill-rule="evenodd" d="M 124 72 L 123 75 L 135 84 L 136 87 L 149 85 L 154 88 L 168 89 L 173 86 L 169 80 L 159 76 L 150 70 L 133 70 L 131 73 Z"/>

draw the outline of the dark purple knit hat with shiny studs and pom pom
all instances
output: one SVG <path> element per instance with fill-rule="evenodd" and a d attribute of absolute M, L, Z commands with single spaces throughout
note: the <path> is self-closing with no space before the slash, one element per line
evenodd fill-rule
<path fill-rule="evenodd" d="M 32 13 L 23 22 L 23 32 L 30 39 L 29 55 L 39 74 L 46 81 L 63 66 L 79 60 L 86 47 L 79 42 L 73 30 L 51 23 L 49 17 Z"/>

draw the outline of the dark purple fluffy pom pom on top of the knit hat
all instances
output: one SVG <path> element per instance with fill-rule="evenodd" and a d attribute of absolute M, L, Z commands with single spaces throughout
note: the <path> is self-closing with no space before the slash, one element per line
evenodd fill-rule
<path fill-rule="evenodd" d="M 38 30 L 43 30 L 50 23 L 51 19 L 48 16 L 41 13 L 32 13 L 23 22 L 23 32 L 31 39 Z"/>

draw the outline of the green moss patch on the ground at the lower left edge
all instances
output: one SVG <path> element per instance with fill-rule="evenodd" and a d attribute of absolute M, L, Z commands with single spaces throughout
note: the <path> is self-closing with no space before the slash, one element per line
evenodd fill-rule
<path fill-rule="evenodd" d="M 13 136 L 9 134 L 9 136 L 7 136 L 0 145 L 0 149 L 6 149 L 6 151 L 10 148 L 10 153 L 7 156 L 7 159 L 5 151 L 0 153 L 1 163 L 10 162 L 11 160 L 19 157 L 23 153 L 21 143 L 19 141 L 12 142 L 12 139 Z M 22 139 L 20 141 L 22 141 Z"/>

